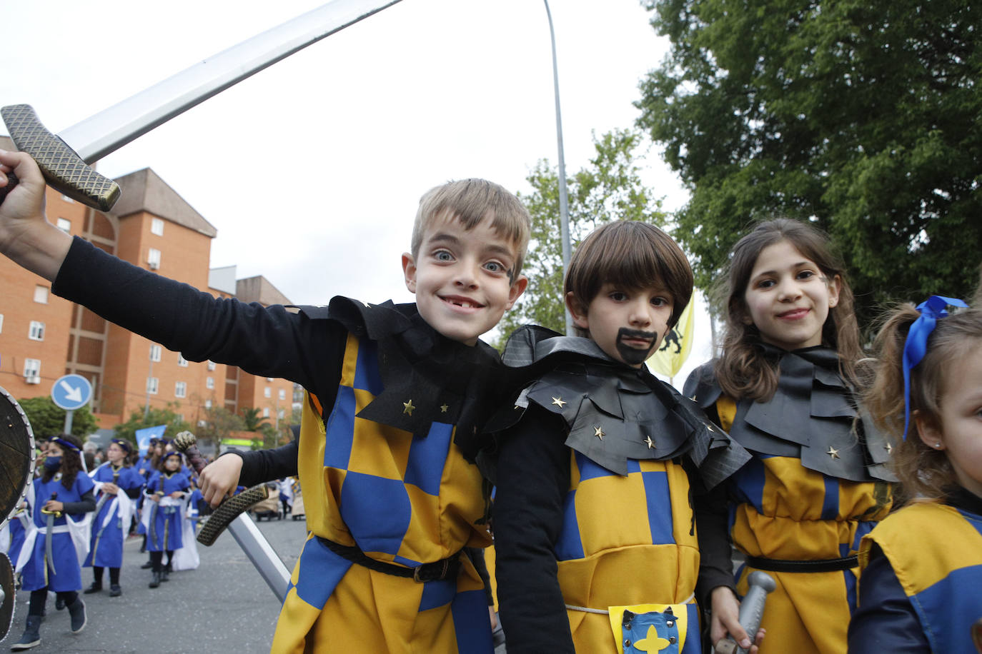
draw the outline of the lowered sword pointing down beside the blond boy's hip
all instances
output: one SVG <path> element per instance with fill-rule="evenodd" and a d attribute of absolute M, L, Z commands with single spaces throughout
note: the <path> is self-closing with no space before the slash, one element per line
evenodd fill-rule
<path fill-rule="evenodd" d="M 188 465 L 194 469 L 196 474 L 200 475 L 207 462 L 197 449 L 196 442 L 197 438 L 191 431 L 182 431 L 174 437 L 174 447 L 188 456 Z M 262 490 L 265 491 L 265 487 Z M 248 492 L 246 491 L 243 495 L 246 495 Z M 228 523 L 229 533 L 232 534 L 232 537 L 236 539 L 239 546 L 246 552 L 248 560 L 255 566 L 259 575 L 269 585 L 273 594 L 276 595 L 276 598 L 282 601 L 290 589 L 290 571 L 287 570 L 280 555 L 276 553 L 273 546 L 262 535 L 262 531 L 255 526 L 255 523 L 243 515 L 242 512 L 248 508 L 248 503 L 243 502 L 241 498 L 242 495 L 235 495 L 222 502 L 211 517 L 208 518 L 205 527 L 201 528 L 201 534 L 197 539 L 199 542 L 210 545 L 211 542 L 202 540 L 202 536 L 205 535 L 205 530 L 207 529 L 209 533 L 214 534 L 211 537 L 211 541 L 214 542 L 214 538 L 218 537 L 221 528 L 225 527 L 224 521 L 228 520 L 228 518 L 222 518 L 226 514 L 226 511 L 223 511 L 223 509 L 231 509 L 228 513 L 230 516 L 235 516 L 235 519 Z M 252 503 L 255 503 L 255 501 L 252 500 Z M 214 524 L 212 521 L 214 521 Z"/>

